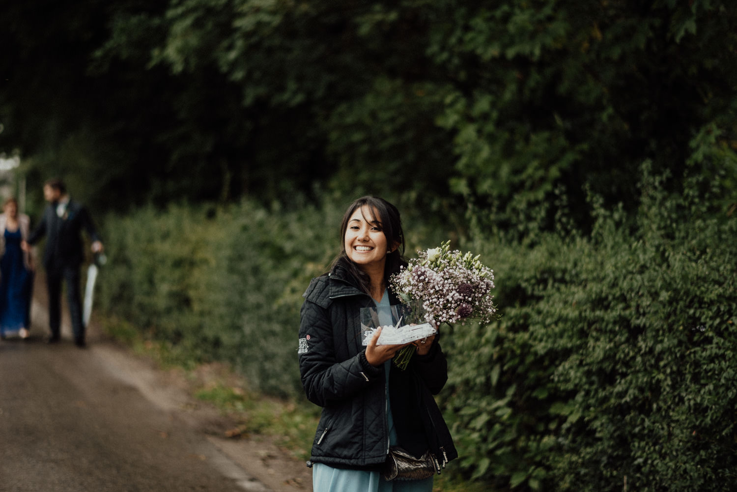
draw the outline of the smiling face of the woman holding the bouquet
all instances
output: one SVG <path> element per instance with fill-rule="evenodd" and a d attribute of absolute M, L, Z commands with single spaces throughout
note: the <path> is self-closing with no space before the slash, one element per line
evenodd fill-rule
<path fill-rule="evenodd" d="M 356 209 L 348 221 L 343 241 L 346 254 L 359 266 L 383 266 L 386 261 L 386 236 L 376 210 L 367 206 Z"/>

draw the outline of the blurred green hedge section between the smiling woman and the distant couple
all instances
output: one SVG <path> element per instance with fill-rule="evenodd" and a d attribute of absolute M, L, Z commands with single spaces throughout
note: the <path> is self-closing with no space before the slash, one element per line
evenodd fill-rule
<path fill-rule="evenodd" d="M 111 215 L 102 308 L 181 360 L 228 361 L 254 389 L 296 395 L 301 294 L 329 263 L 324 224 L 339 220 L 299 203 Z"/>

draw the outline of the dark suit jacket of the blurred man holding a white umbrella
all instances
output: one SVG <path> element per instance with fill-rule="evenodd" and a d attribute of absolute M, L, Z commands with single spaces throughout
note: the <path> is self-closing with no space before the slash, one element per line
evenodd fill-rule
<path fill-rule="evenodd" d="M 43 265 L 46 268 L 78 267 L 85 259 L 82 230 L 92 241 L 99 240 L 87 209 L 77 201 L 69 200 L 66 212 L 59 217 L 56 205 L 49 204 L 43 210 L 43 218 L 29 236 L 27 243 L 34 244 L 46 235 L 43 249 Z"/>

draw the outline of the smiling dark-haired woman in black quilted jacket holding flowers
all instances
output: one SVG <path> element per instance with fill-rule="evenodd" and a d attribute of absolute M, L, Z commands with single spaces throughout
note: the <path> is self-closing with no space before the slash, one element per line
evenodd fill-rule
<path fill-rule="evenodd" d="M 433 475 L 458 457 L 433 395 L 447 380 L 437 336 L 415 342 L 405 370 L 392 363 L 404 345 L 363 347 L 360 310 L 380 318 L 399 299 L 389 277 L 406 265 L 397 207 L 366 196 L 343 216 L 341 252 L 304 293 L 299 368 L 307 398 L 322 407 L 308 465 L 315 492 L 431 492 Z M 388 318 L 388 319 L 391 319 Z M 391 478 L 390 451 L 431 462 L 422 476 Z M 403 478 L 403 479 L 402 479 Z"/>

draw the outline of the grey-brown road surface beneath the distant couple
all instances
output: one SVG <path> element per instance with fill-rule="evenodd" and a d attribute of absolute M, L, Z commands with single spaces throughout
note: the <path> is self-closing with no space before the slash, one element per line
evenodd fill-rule
<path fill-rule="evenodd" d="M 116 344 L 90 333 L 80 349 L 68 323 L 43 343 L 44 311 L 32 339 L 0 342 L 0 492 L 311 490 L 286 470 L 256 479 L 258 448 L 202 432 L 186 395 Z"/>

